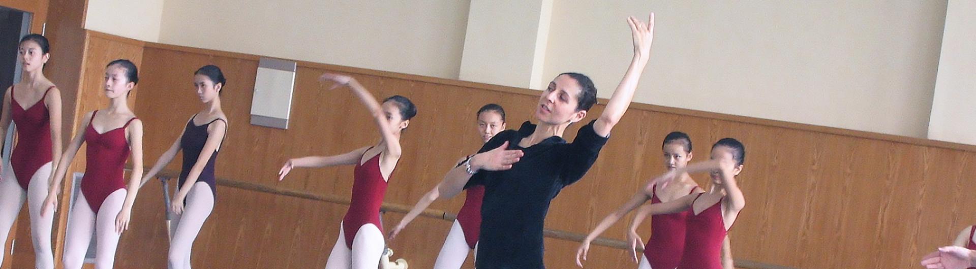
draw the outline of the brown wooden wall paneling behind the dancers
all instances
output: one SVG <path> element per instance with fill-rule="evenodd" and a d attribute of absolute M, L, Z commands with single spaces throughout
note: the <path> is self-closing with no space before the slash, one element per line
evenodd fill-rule
<path fill-rule="evenodd" d="M 251 103 L 247 91 L 253 88 L 257 68 L 254 57 L 160 44 L 146 47 L 143 70 L 155 71 L 143 76 L 138 112 L 147 124 L 182 128 L 199 104 L 188 93 L 172 95 L 176 92 L 170 92 L 171 85 L 188 84 L 189 74 L 205 63 L 224 68 L 230 86 L 222 99 L 231 125 L 218 174 L 242 181 L 348 195 L 351 168 L 296 170 L 285 181 L 274 179 L 287 158 L 343 153 L 379 139 L 372 120 L 348 90 L 326 91 L 319 86 L 316 79 L 322 72 L 352 74 L 378 97 L 410 97 L 419 114 L 401 138 L 404 158 L 391 177 L 387 203 L 413 205 L 457 158 L 476 150 L 480 142 L 472 122 L 481 104 L 505 106 L 508 128 L 517 129 L 531 119 L 538 101 L 538 92 L 533 91 L 300 62 L 292 128 L 258 128 L 247 123 Z M 583 124 L 602 107 L 590 111 Z M 567 130 L 567 140 L 579 126 Z M 747 163 L 739 180 L 747 208 L 730 231 L 737 258 L 800 268 L 913 267 L 920 255 L 949 244 L 959 229 L 976 221 L 964 206 L 950 203 L 976 198 L 962 190 L 974 184 L 966 178 L 976 173 L 976 166 L 969 164 L 976 158 L 970 146 L 634 104 L 596 166 L 552 201 L 548 227 L 589 232 L 642 182 L 664 172 L 660 143 L 674 130 L 692 136 L 696 161 L 709 158 L 712 142 L 718 138 L 732 136 L 746 143 Z M 147 150 L 147 164 L 177 131 L 160 133 L 173 134 L 160 134 L 166 137 L 147 146 L 156 151 Z M 693 176 L 703 187 L 710 185 L 707 174 Z M 153 196 L 158 194 L 149 195 L 158 199 Z M 218 197 L 218 206 L 196 242 L 197 266 L 321 267 L 346 212 L 342 205 L 226 187 Z M 462 199 L 431 208 L 457 211 Z M 400 217 L 387 213 L 386 227 Z M 623 239 L 629 221 L 630 215 L 605 237 Z M 645 240 L 653 232 L 648 226 L 640 229 Z M 447 221 L 420 218 L 389 245 L 412 267 L 426 268 L 449 227 Z M 549 267 L 574 266 L 577 246 L 547 239 Z M 594 247 L 588 264 L 626 268 L 632 266 L 629 259 L 624 250 Z"/>

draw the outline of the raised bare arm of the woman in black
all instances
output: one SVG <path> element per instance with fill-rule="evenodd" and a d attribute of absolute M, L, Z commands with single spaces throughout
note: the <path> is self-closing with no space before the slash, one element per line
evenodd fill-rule
<path fill-rule="evenodd" d="M 651 42 L 654 40 L 654 14 L 647 19 L 647 23 L 635 17 L 627 19 L 630 24 L 630 34 L 633 37 L 633 58 L 630 59 L 630 66 L 624 74 L 624 79 L 617 85 L 610 101 L 607 102 L 603 113 L 593 123 L 593 131 L 596 135 L 606 137 L 610 135 L 610 130 L 620 121 L 620 118 L 627 112 L 633 93 L 637 89 L 640 75 L 647 66 L 647 60 L 651 57 Z"/>

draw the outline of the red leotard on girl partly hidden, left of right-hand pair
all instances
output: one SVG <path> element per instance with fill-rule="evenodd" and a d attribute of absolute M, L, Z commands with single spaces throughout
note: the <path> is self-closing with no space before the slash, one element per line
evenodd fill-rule
<path fill-rule="evenodd" d="M 658 199 L 657 185 L 651 187 L 654 194 L 651 205 L 662 203 Z M 695 188 L 691 188 L 691 195 Z M 651 238 L 644 246 L 644 256 L 651 268 L 674 268 L 681 261 L 684 250 L 685 225 L 692 210 L 651 216 Z"/>

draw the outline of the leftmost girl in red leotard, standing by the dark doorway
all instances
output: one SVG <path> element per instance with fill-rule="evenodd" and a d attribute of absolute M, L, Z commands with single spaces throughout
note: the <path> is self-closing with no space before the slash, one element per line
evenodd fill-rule
<path fill-rule="evenodd" d="M 50 189 L 51 172 L 61 159 L 61 91 L 44 76 L 50 50 L 48 39 L 42 35 L 28 34 L 20 39 L 18 55 L 23 73 L 20 83 L 11 86 L 4 96 L 0 116 L 0 139 L 7 137 L 11 121 L 17 126 L 17 145 L 10 163 L 3 164 L 0 173 L 0 239 L 6 242 L 26 200 L 34 267 L 42 269 L 55 268 L 51 251 L 54 215 L 41 215 L 41 207 Z"/>

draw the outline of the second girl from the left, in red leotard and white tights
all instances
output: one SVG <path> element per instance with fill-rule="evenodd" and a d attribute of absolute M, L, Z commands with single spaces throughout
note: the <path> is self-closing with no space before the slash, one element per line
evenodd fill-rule
<path fill-rule="evenodd" d="M 81 192 L 68 217 L 64 268 L 81 268 L 93 232 L 98 233 L 99 242 L 95 268 L 112 268 L 119 236 L 129 229 L 142 175 L 142 121 L 129 109 L 126 98 L 137 83 L 139 70 L 132 61 L 116 59 L 108 63 L 104 83 L 104 94 L 110 100 L 108 107 L 85 114 L 77 135 L 61 156 L 42 215 L 54 214 L 58 208 L 61 178 L 81 145 L 88 145 Z M 133 172 L 126 184 L 123 170 L 130 156 Z"/>

